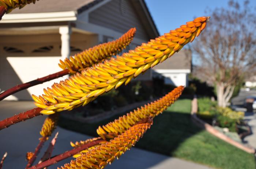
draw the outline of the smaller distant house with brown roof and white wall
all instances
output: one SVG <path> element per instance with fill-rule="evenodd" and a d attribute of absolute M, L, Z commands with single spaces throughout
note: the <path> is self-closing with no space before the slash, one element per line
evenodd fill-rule
<path fill-rule="evenodd" d="M 153 67 L 153 76 L 164 76 L 165 84 L 188 86 L 191 58 L 191 50 L 183 49 L 166 59 L 165 62 Z"/>

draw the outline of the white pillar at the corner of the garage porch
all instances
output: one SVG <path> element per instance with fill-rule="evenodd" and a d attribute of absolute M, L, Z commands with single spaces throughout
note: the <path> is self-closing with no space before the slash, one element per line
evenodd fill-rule
<path fill-rule="evenodd" d="M 61 34 L 61 59 L 69 58 L 70 56 L 70 34 L 71 28 L 63 26 L 59 28 Z"/>

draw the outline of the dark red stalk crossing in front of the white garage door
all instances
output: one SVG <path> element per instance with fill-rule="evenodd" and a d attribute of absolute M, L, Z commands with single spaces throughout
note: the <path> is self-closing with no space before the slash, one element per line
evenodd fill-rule
<path fill-rule="evenodd" d="M 4 98 L 14 94 L 14 93 L 17 93 L 18 91 L 27 89 L 27 88 L 29 88 L 31 86 L 35 86 L 37 84 L 48 82 L 48 81 L 50 81 L 52 79 L 56 79 L 56 78 L 59 78 L 61 76 L 67 75 L 67 74 L 69 74 L 69 70 L 65 69 L 65 70 L 59 71 L 57 73 L 48 75 L 48 76 L 44 76 L 42 78 L 38 78 L 38 79 L 32 80 L 32 81 L 27 82 L 27 83 L 18 84 L 17 86 L 12 87 L 12 88 L 4 91 L 3 93 L 1 93 L 0 94 L 0 101 L 3 100 Z"/>

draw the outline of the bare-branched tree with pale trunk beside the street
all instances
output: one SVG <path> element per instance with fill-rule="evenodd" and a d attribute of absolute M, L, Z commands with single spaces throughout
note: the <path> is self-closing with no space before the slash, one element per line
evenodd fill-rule
<path fill-rule="evenodd" d="M 192 49 L 200 58 L 197 74 L 216 86 L 218 106 L 226 107 L 234 88 L 255 75 L 256 14 L 249 1 L 229 1 L 228 8 L 211 11 L 211 21 Z"/>

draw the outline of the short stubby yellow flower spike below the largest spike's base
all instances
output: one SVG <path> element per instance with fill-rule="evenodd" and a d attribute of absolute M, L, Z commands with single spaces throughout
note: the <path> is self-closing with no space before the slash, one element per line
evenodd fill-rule
<path fill-rule="evenodd" d="M 52 134 L 53 130 L 56 128 L 59 115 L 59 113 L 51 114 L 45 119 L 42 129 L 40 131 L 42 137 L 47 137 L 46 139 L 48 139 L 48 137 Z"/>

